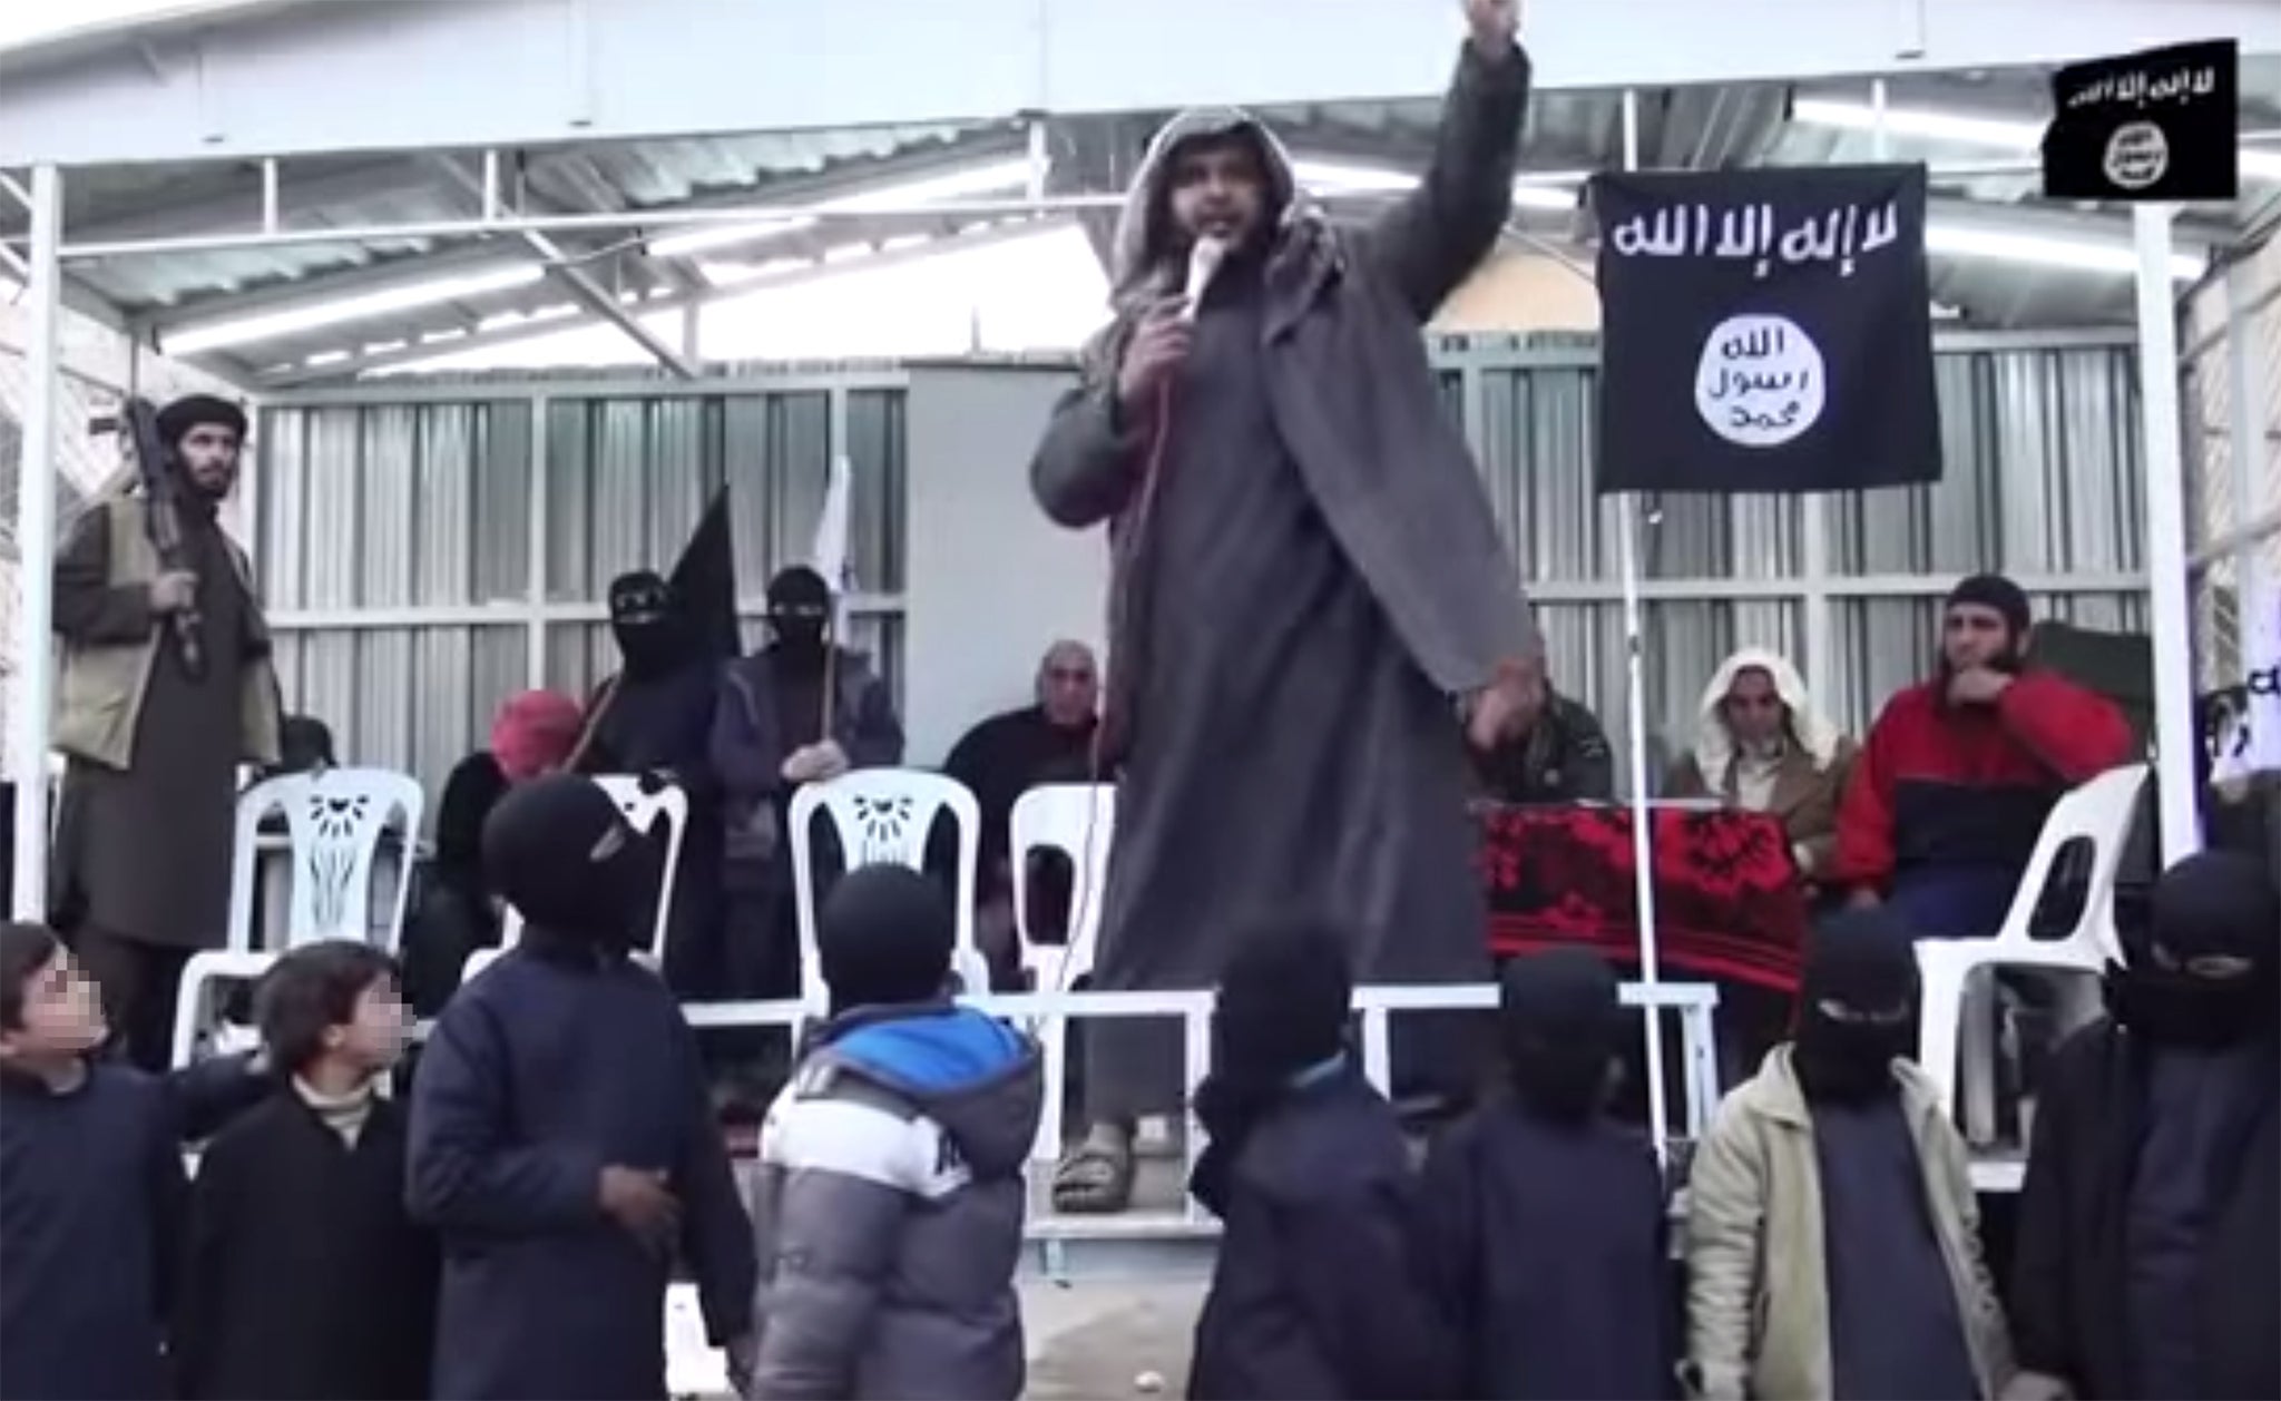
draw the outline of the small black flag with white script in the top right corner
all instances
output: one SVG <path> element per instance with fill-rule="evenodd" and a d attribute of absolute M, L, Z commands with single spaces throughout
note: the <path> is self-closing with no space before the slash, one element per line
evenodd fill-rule
<path fill-rule="evenodd" d="M 2240 192 L 2233 39 L 2069 64 L 2051 75 L 2048 199 L 2185 203 Z"/>

